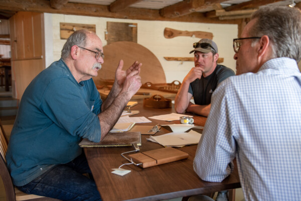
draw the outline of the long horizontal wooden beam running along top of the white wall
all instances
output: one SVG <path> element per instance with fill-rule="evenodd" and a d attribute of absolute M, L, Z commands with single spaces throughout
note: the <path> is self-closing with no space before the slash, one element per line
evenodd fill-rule
<path fill-rule="evenodd" d="M 109 6 L 95 4 L 79 4 L 68 2 L 61 9 L 50 7 L 48 0 L 0 0 L 0 10 L 28 11 L 37 13 L 57 13 L 65 15 L 81 15 L 118 19 L 150 20 L 150 21 L 175 21 L 198 22 L 214 24 L 238 24 L 239 20 L 220 21 L 217 18 L 206 18 L 203 13 L 192 13 L 181 18 L 165 18 L 160 16 L 159 10 L 127 8 L 124 11 L 112 13 Z"/>

